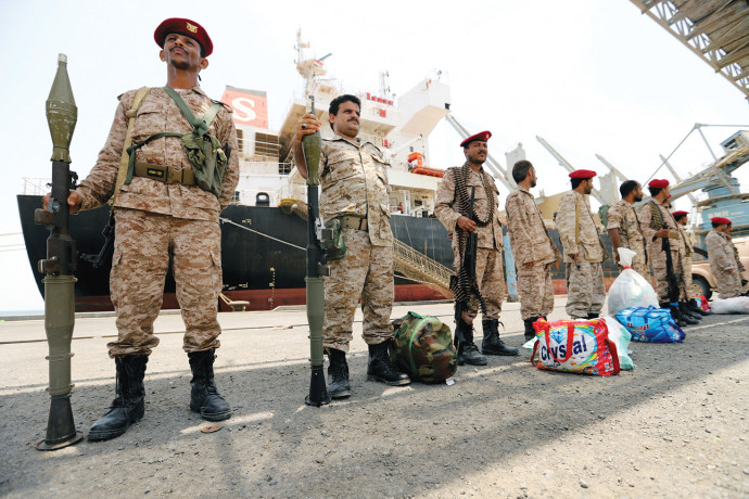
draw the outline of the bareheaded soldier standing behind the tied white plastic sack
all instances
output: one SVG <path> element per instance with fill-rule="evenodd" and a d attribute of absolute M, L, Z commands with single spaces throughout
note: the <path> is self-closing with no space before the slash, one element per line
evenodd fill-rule
<path fill-rule="evenodd" d="M 632 259 L 632 268 L 650 282 L 648 257 L 645 252 L 645 239 L 639 227 L 637 212 L 634 204 L 643 201 L 643 188 L 635 180 L 626 180 L 619 187 L 622 199 L 609 208 L 608 225 L 613 259 L 619 264 L 619 247 L 626 247 L 636 253 Z"/>

